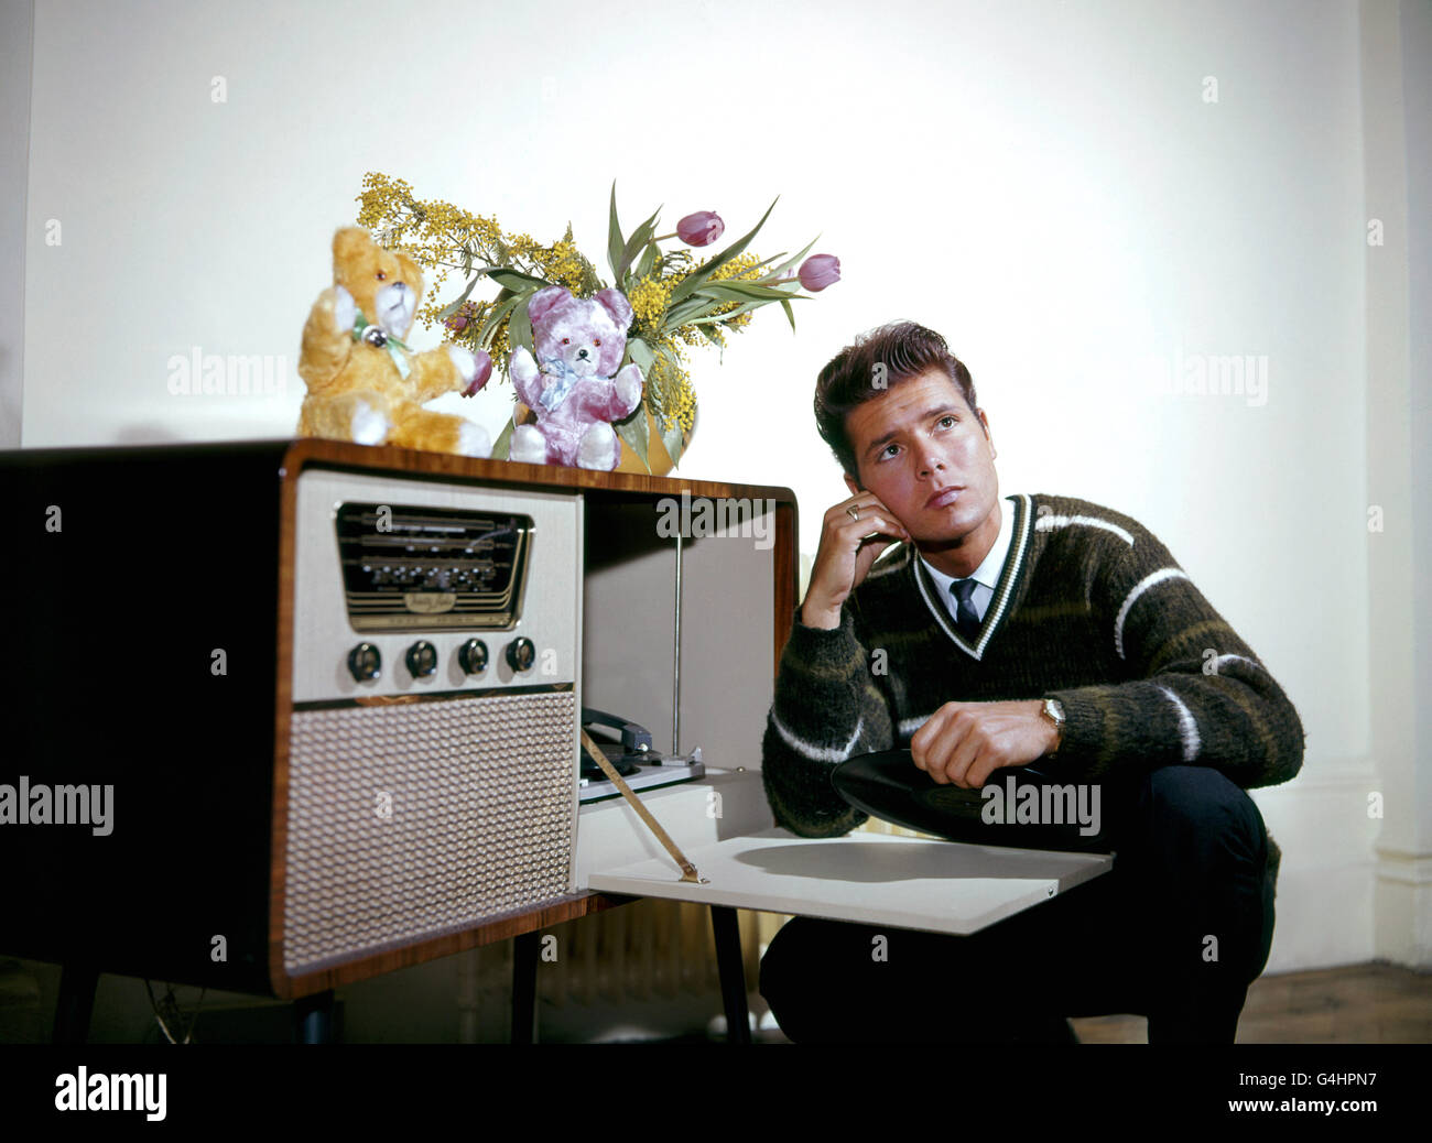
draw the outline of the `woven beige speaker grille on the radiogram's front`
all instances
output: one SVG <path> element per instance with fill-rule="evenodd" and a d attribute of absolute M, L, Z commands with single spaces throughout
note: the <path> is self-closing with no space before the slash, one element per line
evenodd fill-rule
<path fill-rule="evenodd" d="M 576 695 L 295 710 L 284 967 L 571 891 Z"/>

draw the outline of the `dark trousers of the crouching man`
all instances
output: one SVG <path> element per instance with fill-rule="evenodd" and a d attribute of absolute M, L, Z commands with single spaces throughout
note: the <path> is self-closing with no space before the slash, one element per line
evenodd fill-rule
<path fill-rule="evenodd" d="M 968 937 L 788 921 L 760 961 L 782 1031 L 1037 1043 L 1071 1040 L 1065 1017 L 1133 1013 L 1150 1043 L 1232 1043 L 1273 941 L 1263 816 L 1206 766 L 1106 782 L 1101 804 L 1114 868 Z"/>

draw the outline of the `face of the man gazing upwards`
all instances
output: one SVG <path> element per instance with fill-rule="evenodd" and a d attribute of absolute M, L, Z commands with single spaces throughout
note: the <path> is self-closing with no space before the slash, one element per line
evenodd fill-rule
<path fill-rule="evenodd" d="M 965 404 L 941 370 L 929 370 L 858 405 L 845 418 L 859 486 L 905 526 L 927 559 L 984 551 L 1000 534 L 1000 481 L 984 414 Z M 961 560 L 964 563 L 964 560 Z M 968 569 L 964 574 L 968 574 Z"/>

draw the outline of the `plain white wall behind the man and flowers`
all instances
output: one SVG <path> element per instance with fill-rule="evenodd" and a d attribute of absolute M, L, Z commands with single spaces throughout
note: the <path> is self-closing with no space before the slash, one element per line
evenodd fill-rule
<path fill-rule="evenodd" d="M 1270 968 L 1373 954 L 1355 3 L 394 11 L 36 3 L 26 447 L 289 435 L 299 331 L 367 170 L 537 236 L 570 219 L 599 262 L 613 178 L 629 226 L 664 203 L 735 235 L 780 193 L 756 249 L 819 231 L 845 279 L 795 337 L 765 311 L 725 364 L 699 358 L 682 473 L 792 487 L 813 550 L 843 496 L 815 372 L 891 318 L 942 329 L 1004 487 L 1138 517 L 1296 702 L 1305 776 L 1259 795 L 1292 887 Z M 192 347 L 282 355 L 286 392 L 170 395 Z M 1199 355 L 1266 361 L 1266 400 L 1160 388 Z M 495 431 L 491 388 L 441 407 Z"/>

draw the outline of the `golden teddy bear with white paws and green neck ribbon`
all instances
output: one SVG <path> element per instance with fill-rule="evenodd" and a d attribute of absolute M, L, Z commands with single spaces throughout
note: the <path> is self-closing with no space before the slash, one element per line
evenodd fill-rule
<path fill-rule="evenodd" d="M 415 354 L 402 344 L 422 296 L 422 274 L 361 226 L 334 235 L 334 285 L 304 325 L 298 374 L 308 385 L 298 433 L 358 444 L 488 457 L 493 440 L 464 417 L 422 408 L 444 392 L 471 397 L 493 360 L 460 345 Z"/>

